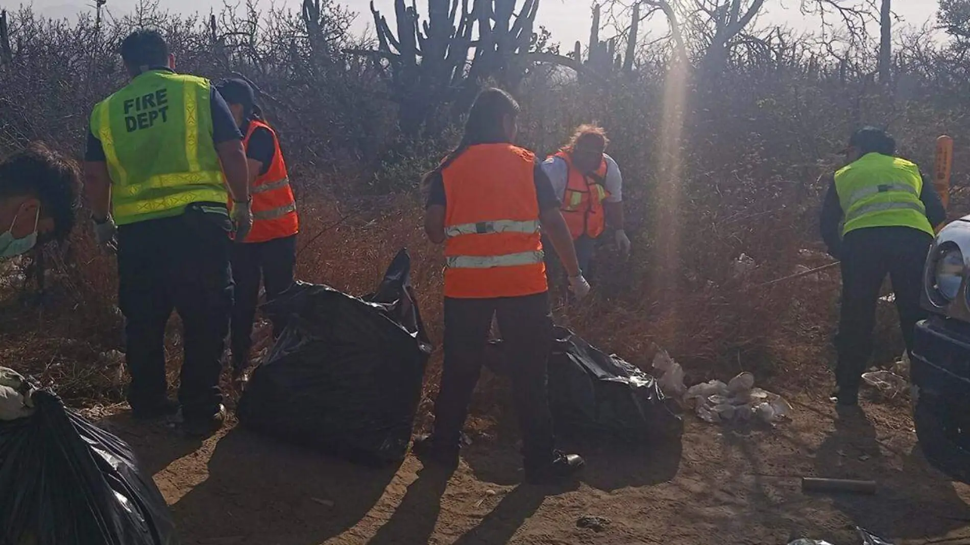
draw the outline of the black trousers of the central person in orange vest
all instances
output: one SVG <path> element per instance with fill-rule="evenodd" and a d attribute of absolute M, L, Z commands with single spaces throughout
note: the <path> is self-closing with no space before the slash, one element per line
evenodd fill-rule
<path fill-rule="evenodd" d="M 526 467 L 552 460 L 547 365 L 552 345 L 548 294 L 444 300 L 444 364 L 435 402 L 435 439 L 458 444 L 481 372 L 493 315 L 498 317 L 512 378 Z"/>

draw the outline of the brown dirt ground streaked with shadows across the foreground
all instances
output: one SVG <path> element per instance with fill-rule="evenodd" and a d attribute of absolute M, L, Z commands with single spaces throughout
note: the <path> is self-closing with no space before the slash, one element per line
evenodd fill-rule
<path fill-rule="evenodd" d="M 139 454 L 185 544 L 663 543 L 856 544 L 854 527 L 895 545 L 970 544 L 970 487 L 932 469 L 902 403 L 864 401 L 837 418 L 796 399 L 791 422 L 727 430 L 687 417 L 679 444 L 585 446 L 564 487 L 519 484 L 513 437 L 474 442 L 449 475 L 411 456 L 374 469 L 232 427 L 181 438 L 127 413 L 102 420 Z M 800 491 L 803 475 L 874 479 L 875 496 Z M 609 520 L 577 528 L 584 515 Z"/>

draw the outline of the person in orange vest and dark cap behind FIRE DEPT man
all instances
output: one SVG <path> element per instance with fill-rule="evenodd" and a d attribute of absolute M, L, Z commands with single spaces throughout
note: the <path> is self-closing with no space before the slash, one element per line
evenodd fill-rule
<path fill-rule="evenodd" d="M 242 144 L 252 195 L 252 229 L 244 240 L 233 244 L 236 301 L 230 346 L 233 374 L 241 377 L 249 364 L 260 278 L 267 299 L 273 299 L 293 283 L 300 222 L 279 140 L 263 120 L 252 87 L 244 80 L 224 80 L 217 88 L 244 135 Z M 274 337 L 279 333 L 274 327 Z"/>

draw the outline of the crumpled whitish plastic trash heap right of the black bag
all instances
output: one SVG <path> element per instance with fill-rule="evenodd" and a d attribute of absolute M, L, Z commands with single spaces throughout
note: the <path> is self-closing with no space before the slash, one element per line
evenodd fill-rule
<path fill-rule="evenodd" d="M 701 382 L 687 389 L 684 403 L 695 406 L 697 417 L 711 424 L 746 422 L 757 418 L 775 424 L 792 414 L 792 405 L 777 394 L 755 388 L 755 375 L 742 372 L 725 384 Z"/>

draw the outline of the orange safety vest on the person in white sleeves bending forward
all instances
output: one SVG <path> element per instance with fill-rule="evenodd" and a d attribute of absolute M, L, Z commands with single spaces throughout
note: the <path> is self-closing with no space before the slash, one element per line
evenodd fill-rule
<path fill-rule="evenodd" d="M 596 239 L 606 229 L 602 204 L 603 199 L 609 197 L 605 186 L 606 159 L 600 161 L 597 172 L 584 175 L 572 166 L 572 157 L 567 151 L 556 153 L 556 157 L 566 161 L 568 176 L 562 211 L 572 240 L 583 235 Z"/>

